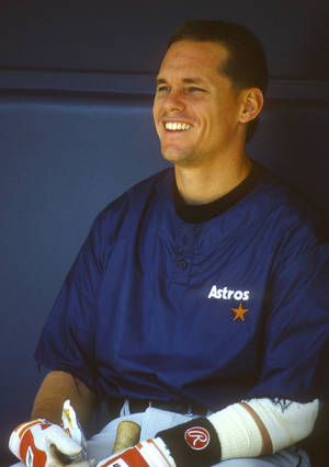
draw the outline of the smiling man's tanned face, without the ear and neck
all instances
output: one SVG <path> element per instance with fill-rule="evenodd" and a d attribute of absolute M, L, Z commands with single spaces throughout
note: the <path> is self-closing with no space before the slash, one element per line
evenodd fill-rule
<path fill-rule="evenodd" d="M 154 118 L 162 155 L 177 166 L 198 167 L 235 145 L 241 99 L 220 72 L 227 54 L 219 43 L 180 41 L 163 58 Z"/>

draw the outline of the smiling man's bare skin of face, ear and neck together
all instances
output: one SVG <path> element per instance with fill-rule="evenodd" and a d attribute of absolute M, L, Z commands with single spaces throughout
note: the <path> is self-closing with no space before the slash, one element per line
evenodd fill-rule
<path fill-rule="evenodd" d="M 225 195 L 250 171 L 247 125 L 260 113 L 263 95 L 257 88 L 235 88 L 224 72 L 228 55 L 220 43 L 175 42 L 157 79 L 154 116 L 161 151 L 174 163 L 189 203 Z"/>

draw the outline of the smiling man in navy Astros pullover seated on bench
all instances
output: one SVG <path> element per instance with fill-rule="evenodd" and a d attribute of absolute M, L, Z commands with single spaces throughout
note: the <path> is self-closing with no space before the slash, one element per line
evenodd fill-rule
<path fill-rule="evenodd" d="M 53 465 L 49 445 L 75 453 L 54 432 L 66 399 L 82 425 L 100 399 L 126 400 L 141 424 L 141 443 L 107 460 L 121 419 L 95 436 L 99 466 L 309 465 L 294 445 L 329 392 L 329 249 L 316 215 L 247 156 L 265 87 L 245 27 L 172 36 L 154 118 L 174 168 L 99 215 L 63 286 L 36 351 L 50 373 L 32 420 L 47 422 L 11 438 L 24 459 L 43 446 L 30 465 Z"/>

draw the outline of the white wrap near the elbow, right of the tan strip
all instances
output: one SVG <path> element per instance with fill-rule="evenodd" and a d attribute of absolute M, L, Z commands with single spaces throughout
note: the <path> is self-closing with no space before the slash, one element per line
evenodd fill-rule
<path fill-rule="evenodd" d="M 280 403 L 271 399 L 251 399 L 247 403 L 264 423 L 272 440 L 273 453 L 308 436 L 319 412 L 318 399 L 307 403 L 286 399 Z"/>

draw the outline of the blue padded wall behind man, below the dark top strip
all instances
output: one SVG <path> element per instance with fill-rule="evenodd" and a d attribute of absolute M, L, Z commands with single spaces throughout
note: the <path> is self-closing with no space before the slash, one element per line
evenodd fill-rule
<path fill-rule="evenodd" d="M 95 214 L 166 166 L 151 99 L 0 95 L 1 440 L 29 417 L 43 322 Z M 270 100 L 249 153 L 326 208 L 329 106 Z M 3 441 L 4 440 L 4 441 Z"/>

